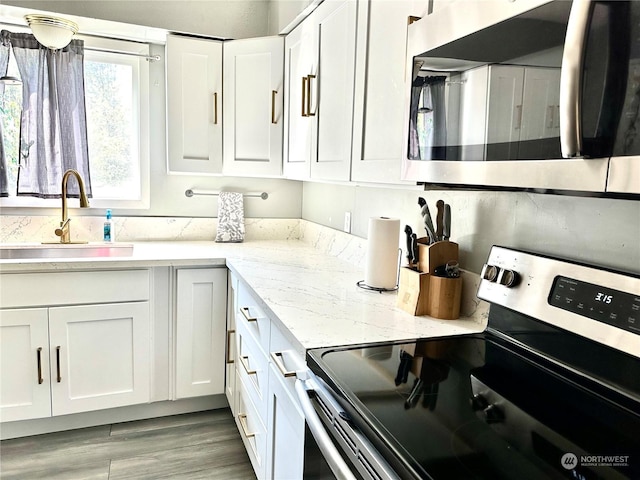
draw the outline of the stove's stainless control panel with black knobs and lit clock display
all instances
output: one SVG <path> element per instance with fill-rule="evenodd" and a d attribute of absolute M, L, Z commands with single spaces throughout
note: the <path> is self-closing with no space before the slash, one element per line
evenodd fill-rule
<path fill-rule="evenodd" d="M 478 298 L 640 358 L 640 275 L 491 248 Z"/>

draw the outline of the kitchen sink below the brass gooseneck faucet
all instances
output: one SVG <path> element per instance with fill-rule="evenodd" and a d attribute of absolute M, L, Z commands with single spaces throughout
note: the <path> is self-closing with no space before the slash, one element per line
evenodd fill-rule
<path fill-rule="evenodd" d="M 131 243 L 20 243 L 0 245 L 0 259 L 130 257 Z"/>

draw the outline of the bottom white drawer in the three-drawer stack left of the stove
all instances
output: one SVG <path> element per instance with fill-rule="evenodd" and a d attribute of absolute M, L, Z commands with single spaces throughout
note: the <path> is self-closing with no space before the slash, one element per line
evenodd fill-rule
<path fill-rule="evenodd" d="M 249 454 L 256 477 L 258 480 L 263 480 L 266 475 L 267 429 L 249 398 L 247 386 L 239 374 L 236 376 L 236 387 L 238 400 L 236 423 L 240 437 Z"/>

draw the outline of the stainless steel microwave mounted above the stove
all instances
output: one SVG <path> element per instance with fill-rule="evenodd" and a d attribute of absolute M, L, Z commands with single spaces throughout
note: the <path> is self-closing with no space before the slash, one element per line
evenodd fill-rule
<path fill-rule="evenodd" d="M 456 0 L 407 51 L 403 179 L 640 194 L 640 1 Z"/>

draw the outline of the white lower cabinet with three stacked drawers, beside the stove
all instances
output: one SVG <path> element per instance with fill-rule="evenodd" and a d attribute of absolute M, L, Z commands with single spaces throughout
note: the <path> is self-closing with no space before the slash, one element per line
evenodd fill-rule
<path fill-rule="evenodd" d="M 231 274 L 229 305 L 235 311 L 235 371 L 227 398 L 259 480 L 302 478 L 305 420 L 295 394 L 295 373 L 304 368 L 295 350 L 248 287 Z M 235 383 L 231 382 L 235 380 Z M 229 392 L 235 389 L 235 392 Z"/>

